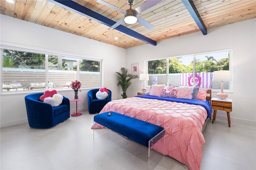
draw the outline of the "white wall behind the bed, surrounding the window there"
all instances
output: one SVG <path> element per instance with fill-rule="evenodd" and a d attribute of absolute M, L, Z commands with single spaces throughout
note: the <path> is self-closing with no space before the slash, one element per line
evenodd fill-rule
<path fill-rule="evenodd" d="M 158 42 L 156 46 L 142 45 L 127 49 L 126 67 L 131 69 L 132 63 L 139 63 L 140 73 L 144 73 L 144 60 L 160 57 L 174 57 L 194 53 L 232 49 L 233 99 L 232 119 L 256 121 L 256 19 L 229 24 L 208 30 L 203 36 L 201 32 L 172 38 Z M 143 86 L 142 81 L 135 81 L 128 89 L 129 96 L 136 95 Z M 216 97 L 216 92 L 212 93 Z M 226 118 L 226 112 L 217 111 L 217 117 Z"/>

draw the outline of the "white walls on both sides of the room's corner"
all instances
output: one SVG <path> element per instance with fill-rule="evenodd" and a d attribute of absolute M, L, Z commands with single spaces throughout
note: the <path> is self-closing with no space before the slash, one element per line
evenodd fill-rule
<path fill-rule="evenodd" d="M 0 15 L 0 45 L 103 58 L 104 87 L 112 90 L 113 100 L 121 98 L 122 91 L 120 87 L 116 86 L 115 73 L 119 72 L 121 67 L 126 67 L 130 71 L 132 63 L 139 63 L 139 71 L 144 73 L 145 59 L 233 49 L 234 92 L 228 94 L 229 98 L 233 99 L 233 111 L 230 113 L 231 123 L 232 119 L 256 121 L 255 30 L 256 19 L 252 19 L 210 29 L 206 36 L 197 32 L 158 42 L 157 46 L 147 44 L 126 50 Z M 142 81 L 132 80 L 132 86 L 127 91 L 128 97 L 135 96 L 142 86 Z M 87 91 L 88 89 L 79 92 L 79 97 L 83 98 L 84 102 L 78 102 L 78 110 L 88 108 Z M 58 93 L 70 99 L 74 97 L 74 92 L 71 89 L 58 91 Z M 24 103 L 24 97 L 27 94 L 0 95 L 0 127 L 27 122 Z M 216 92 L 213 92 L 212 95 L 214 97 Z M 73 112 L 75 104 L 70 104 L 71 112 Z M 223 119 L 226 119 L 225 112 L 218 111 L 217 117 L 218 115 L 222 115 Z"/>

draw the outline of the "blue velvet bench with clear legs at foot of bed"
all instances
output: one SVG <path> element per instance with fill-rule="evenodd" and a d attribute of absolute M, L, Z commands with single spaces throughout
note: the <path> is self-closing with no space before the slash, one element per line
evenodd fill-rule
<path fill-rule="evenodd" d="M 109 113 L 111 113 L 110 116 Z M 115 112 L 95 115 L 94 122 L 148 147 L 148 157 L 150 147 L 165 134 L 163 127 Z"/>

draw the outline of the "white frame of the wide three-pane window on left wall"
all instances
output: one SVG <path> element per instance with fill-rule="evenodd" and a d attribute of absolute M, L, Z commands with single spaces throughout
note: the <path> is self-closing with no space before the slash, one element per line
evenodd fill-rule
<path fill-rule="evenodd" d="M 90 86 L 90 87 L 81 87 L 81 89 L 92 89 L 92 88 L 100 88 L 103 85 L 103 72 L 102 72 L 102 67 L 103 67 L 103 58 L 102 57 L 92 57 L 92 56 L 88 56 L 88 55 L 82 55 L 82 54 L 69 54 L 69 53 L 61 53 L 61 52 L 54 52 L 54 51 L 47 51 L 47 50 L 40 50 L 40 49 L 31 49 L 31 48 L 23 48 L 23 47 L 14 47 L 14 46 L 9 46 L 9 45 L 0 45 L 0 74 L 1 74 L 1 78 L 0 78 L 0 84 L 1 86 L 3 85 L 3 56 L 2 56 L 2 49 L 8 49 L 8 50 L 15 50 L 15 51 L 24 51 L 24 52 L 29 52 L 29 53 L 41 53 L 45 55 L 45 83 L 48 83 L 48 55 L 56 55 L 56 56 L 61 56 L 61 57 L 71 57 L 71 58 L 75 58 L 77 65 L 79 67 L 79 60 L 80 59 L 84 59 L 84 60 L 93 60 L 93 61 L 98 61 L 100 62 L 100 85 L 99 86 Z M 79 71 L 80 69 L 77 68 L 77 73 L 76 73 L 76 79 L 79 80 Z M 74 80 L 70 80 L 71 81 Z M 45 89 L 38 89 L 36 91 L 45 91 L 48 90 L 48 87 L 46 86 Z M 73 90 L 71 88 L 58 88 L 58 91 L 66 91 L 66 90 Z M 12 94 L 12 93 L 31 93 L 31 92 L 35 92 L 35 90 L 18 90 L 18 91 L 3 91 L 3 89 L 1 88 L 0 90 L 0 94 L 4 95 L 4 94 Z"/>

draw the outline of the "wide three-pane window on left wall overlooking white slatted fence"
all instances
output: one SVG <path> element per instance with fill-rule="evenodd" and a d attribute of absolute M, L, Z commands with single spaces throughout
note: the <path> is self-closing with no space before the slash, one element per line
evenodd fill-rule
<path fill-rule="evenodd" d="M 100 87 L 101 60 L 1 49 L 1 92 L 67 89 L 78 79 L 85 87 Z"/>

